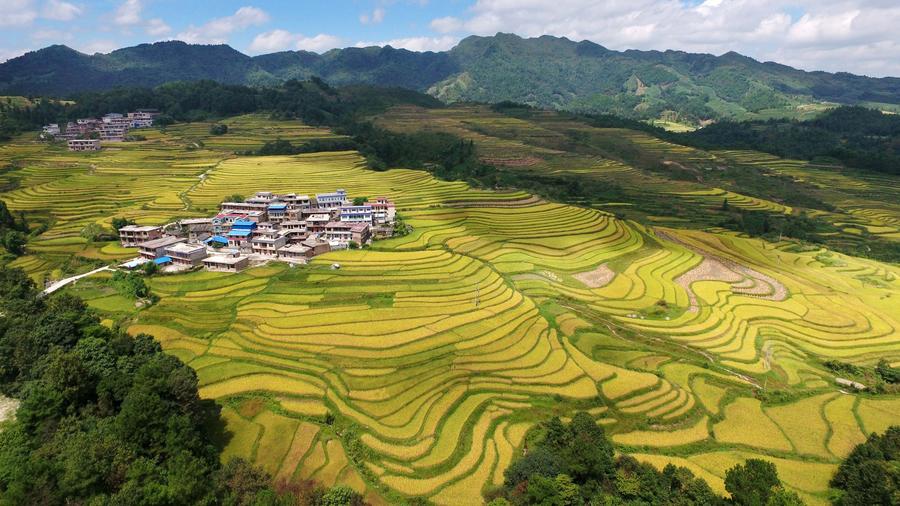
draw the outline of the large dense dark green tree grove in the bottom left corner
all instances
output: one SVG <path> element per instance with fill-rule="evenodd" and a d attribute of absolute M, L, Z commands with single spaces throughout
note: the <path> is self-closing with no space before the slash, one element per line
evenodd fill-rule
<path fill-rule="evenodd" d="M 148 335 L 109 329 L 72 296 L 0 268 L 0 504 L 361 504 L 344 487 L 277 484 L 219 463 L 228 435 L 197 375 Z"/>

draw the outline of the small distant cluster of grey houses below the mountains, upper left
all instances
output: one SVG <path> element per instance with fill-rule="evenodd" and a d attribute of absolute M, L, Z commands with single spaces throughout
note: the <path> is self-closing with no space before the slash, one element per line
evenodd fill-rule
<path fill-rule="evenodd" d="M 124 141 L 129 130 L 151 127 L 157 116 L 159 112 L 156 109 L 138 109 L 128 114 L 110 113 L 100 119 L 70 121 L 65 130 L 58 123 L 50 123 L 44 125 L 41 138 L 65 140 L 69 151 L 97 151 L 101 141 Z"/>

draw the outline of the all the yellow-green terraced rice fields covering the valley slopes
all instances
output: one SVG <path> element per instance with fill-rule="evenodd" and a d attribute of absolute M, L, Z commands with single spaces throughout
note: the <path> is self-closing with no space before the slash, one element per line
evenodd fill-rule
<path fill-rule="evenodd" d="M 481 503 L 529 429 L 578 411 L 618 450 L 685 466 L 717 492 L 728 468 L 757 457 L 805 501 L 826 504 L 840 460 L 900 423 L 900 396 L 842 386 L 826 364 L 900 366 L 900 267 L 710 218 L 723 201 L 805 210 L 833 226 L 835 245 L 891 243 L 896 178 L 706 152 L 555 113 L 398 107 L 376 122 L 454 133 L 503 170 L 607 184 L 621 200 L 556 202 L 421 170 L 377 172 L 352 151 L 234 155 L 335 137 L 261 115 L 224 121 L 223 136 L 210 123 L 175 124 L 89 154 L 25 135 L 0 145 L 0 166 L 11 167 L 0 200 L 45 229 L 11 265 L 40 282 L 132 258 L 81 231 L 114 217 L 208 216 L 233 194 L 339 186 L 392 199 L 411 233 L 306 266 L 157 275 L 159 301 L 147 307 L 117 293 L 108 272 L 67 288 L 196 369 L 201 395 L 224 406 L 223 458 L 347 484 L 376 504 Z M 672 173 L 642 167 L 647 159 Z M 741 191 L 736 167 L 777 188 Z M 830 210 L 778 198 L 796 188 Z"/>

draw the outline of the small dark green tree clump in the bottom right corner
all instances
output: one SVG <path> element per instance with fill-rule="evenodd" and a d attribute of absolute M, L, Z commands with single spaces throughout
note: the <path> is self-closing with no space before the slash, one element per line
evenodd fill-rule
<path fill-rule="evenodd" d="M 838 506 L 900 504 L 900 426 L 872 434 L 838 468 L 831 486 Z"/>

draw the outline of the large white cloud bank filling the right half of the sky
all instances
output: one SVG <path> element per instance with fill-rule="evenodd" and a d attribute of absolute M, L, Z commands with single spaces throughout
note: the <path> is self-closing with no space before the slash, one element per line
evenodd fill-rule
<path fill-rule="evenodd" d="M 883 76 L 900 75 L 898 25 L 897 0 L 476 0 L 463 16 L 430 26 L 458 36 L 557 35 L 619 50 L 734 50 L 810 70 Z"/>

